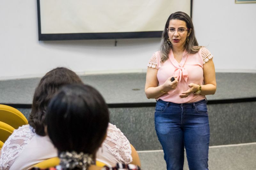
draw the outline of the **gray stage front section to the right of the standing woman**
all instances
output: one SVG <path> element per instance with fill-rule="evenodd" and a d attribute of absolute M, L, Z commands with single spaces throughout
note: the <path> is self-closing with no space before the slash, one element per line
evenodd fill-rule
<path fill-rule="evenodd" d="M 256 102 L 208 105 L 210 145 L 256 142 Z"/>

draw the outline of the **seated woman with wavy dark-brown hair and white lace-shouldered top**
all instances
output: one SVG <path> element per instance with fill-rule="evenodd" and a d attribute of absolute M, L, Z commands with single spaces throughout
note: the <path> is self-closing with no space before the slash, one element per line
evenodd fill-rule
<path fill-rule="evenodd" d="M 57 157 L 57 150 L 44 132 L 45 112 L 54 94 L 63 85 L 74 83 L 83 84 L 75 72 L 64 67 L 53 69 L 45 74 L 34 93 L 29 125 L 14 130 L 1 149 L 1 170 L 26 170 L 46 159 Z M 117 162 L 134 161 L 135 164 L 140 165 L 137 152 L 131 147 L 124 134 L 115 125 L 109 123 L 108 134 L 97 153 L 97 159 L 110 166 L 116 165 Z"/>

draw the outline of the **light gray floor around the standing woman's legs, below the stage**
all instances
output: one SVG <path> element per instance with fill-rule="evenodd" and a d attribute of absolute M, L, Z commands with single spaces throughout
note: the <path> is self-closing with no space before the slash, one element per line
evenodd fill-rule
<path fill-rule="evenodd" d="M 143 170 L 166 170 L 162 150 L 138 152 Z M 210 170 L 256 170 L 256 143 L 210 146 L 208 164 Z"/>

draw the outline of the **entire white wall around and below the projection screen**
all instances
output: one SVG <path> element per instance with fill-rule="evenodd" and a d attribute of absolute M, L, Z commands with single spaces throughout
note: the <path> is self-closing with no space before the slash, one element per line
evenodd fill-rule
<path fill-rule="evenodd" d="M 1 0 L 0 80 L 43 76 L 57 66 L 79 74 L 144 72 L 160 38 L 38 41 L 36 1 Z M 256 72 L 256 3 L 194 0 L 197 40 L 217 71 Z"/>

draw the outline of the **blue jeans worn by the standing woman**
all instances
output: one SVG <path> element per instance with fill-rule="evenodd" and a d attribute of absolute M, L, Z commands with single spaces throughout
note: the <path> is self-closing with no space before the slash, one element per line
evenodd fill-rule
<path fill-rule="evenodd" d="M 155 129 L 167 170 L 182 170 L 184 147 L 190 170 L 208 170 L 210 127 L 206 100 L 176 104 L 156 102 Z"/>

